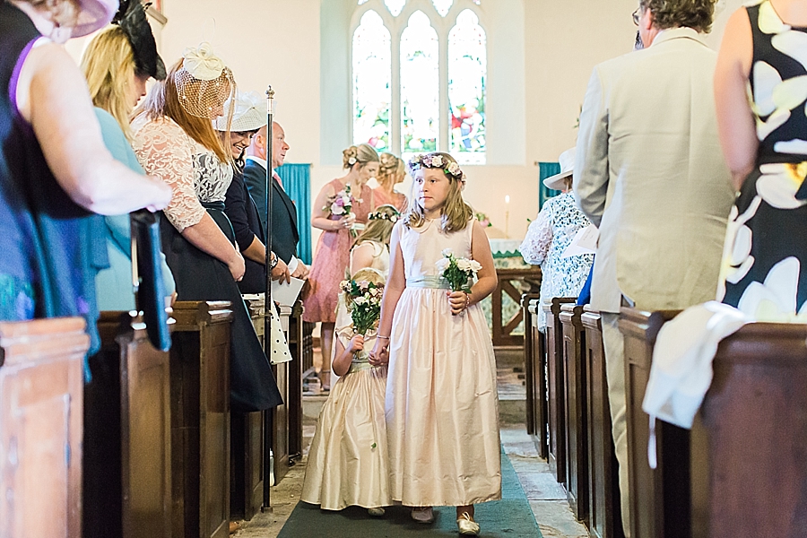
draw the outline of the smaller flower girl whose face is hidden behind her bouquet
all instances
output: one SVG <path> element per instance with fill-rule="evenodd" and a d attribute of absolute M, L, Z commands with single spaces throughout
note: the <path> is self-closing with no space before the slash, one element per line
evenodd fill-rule
<path fill-rule="evenodd" d="M 377 269 L 361 269 L 352 280 L 376 284 L 380 297 L 384 277 Z M 324 510 L 360 506 L 368 508 L 370 516 L 383 516 L 384 507 L 392 504 L 384 416 L 386 365 L 369 364 L 364 351 L 375 343 L 375 329 L 353 334 L 353 325 L 347 325 L 336 338 L 332 368 L 340 377 L 319 414 L 300 499 Z"/>

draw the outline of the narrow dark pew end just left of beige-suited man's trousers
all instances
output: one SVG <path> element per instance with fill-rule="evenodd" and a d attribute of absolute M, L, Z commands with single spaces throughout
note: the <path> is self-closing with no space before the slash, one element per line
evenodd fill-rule
<path fill-rule="evenodd" d="M 603 326 L 599 312 L 588 307 L 580 319 L 586 331 L 588 532 L 593 538 L 623 538 L 619 467 L 613 448 L 611 408 L 605 376 Z"/>

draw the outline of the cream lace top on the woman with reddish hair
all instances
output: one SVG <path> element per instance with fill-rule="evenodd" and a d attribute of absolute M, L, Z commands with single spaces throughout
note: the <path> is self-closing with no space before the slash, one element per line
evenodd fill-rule
<path fill-rule="evenodd" d="M 173 189 L 165 216 L 178 231 L 198 224 L 202 204 L 224 202 L 232 181 L 232 167 L 188 136 L 182 127 L 162 117 L 134 118 L 134 153 L 147 174 L 159 176 Z"/>

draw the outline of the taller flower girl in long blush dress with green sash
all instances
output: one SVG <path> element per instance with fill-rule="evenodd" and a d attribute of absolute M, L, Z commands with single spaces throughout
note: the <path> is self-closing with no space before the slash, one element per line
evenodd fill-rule
<path fill-rule="evenodd" d="M 412 518 L 456 506 L 460 534 L 479 534 L 473 505 L 501 498 L 499 399 L 479 301 L 496 288 L 490 243 L 464 203 L 464 174 L 447 153 L 410 162 L 409 213 L 395 224 L 390 273 L 370 363 L 389 352 L 386 430 L 392 499 Z M 451 291 L 437 263 L 450 249 L 482 268 Z M 441 262 L 442 263 L 442 262 Z"/>

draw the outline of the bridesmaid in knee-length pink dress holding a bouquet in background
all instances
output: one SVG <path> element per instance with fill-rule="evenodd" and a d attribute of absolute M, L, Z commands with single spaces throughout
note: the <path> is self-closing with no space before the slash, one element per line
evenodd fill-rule
<path fill-rule="evenodd" d="M 336 302 L 339 298 L 339 282 L 344 280 L 344 270 L 350 263 L 351 227 L 364 224 L 373 209 L 373 190 L 367 186 L 369 178 L 378 173 L 378 153 L 373 146 L 361 143 L 343 152 L 343 178 L 325 184 L 314 202 L 311 225 L 323 230 L 317 242 L 311 273 L 308 274 L 310 289 L 304 299 L 303 319 L 311 323 L 322 322 L 322 369 L 320 378 L 323 388 L 331 385 L 331 345 L 334 341 Z M 351 186 L 354 202 L 351 215 L 334 215 L 329 208 L 337 193 Z"/>

